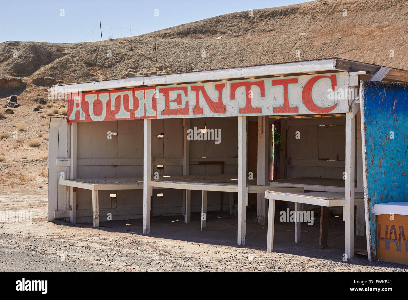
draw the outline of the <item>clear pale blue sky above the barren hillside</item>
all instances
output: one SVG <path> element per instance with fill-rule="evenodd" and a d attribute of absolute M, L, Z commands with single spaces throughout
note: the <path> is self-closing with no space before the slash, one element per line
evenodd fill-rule
<path fill-rule="evenodd" d="M 307 0 L 178 0 L 178 1 L 2 1 L 0 42 L 8 40 L 36 42 L 99 41 L 132 36 L 194 22 L 214 16 L 279 7 Z M 60 16 L 64 9 L 65 16 Z M 155 17 L 155 9 L 159 16 Z M 122 32 L 121 32 L 122 31 Z"/>

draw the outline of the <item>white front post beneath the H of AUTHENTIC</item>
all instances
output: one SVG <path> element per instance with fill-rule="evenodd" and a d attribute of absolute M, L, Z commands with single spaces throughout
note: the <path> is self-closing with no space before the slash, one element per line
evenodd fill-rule
<path fill-rule="evenodd" d="M 151 120 L 143 120 L 143 233 L 150 233 Z"/>

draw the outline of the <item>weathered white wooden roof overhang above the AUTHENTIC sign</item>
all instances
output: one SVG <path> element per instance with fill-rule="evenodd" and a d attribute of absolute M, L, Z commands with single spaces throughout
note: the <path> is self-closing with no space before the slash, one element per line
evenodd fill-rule
<path fill-rule="evenodd" d="M 124 88 L 162 86 L 186 83 L 201 83 L 208 81 L 228 81 L 239 79 L 255 79 L 264 77 L 298 76 L 306 74 L 333 73 L 333 72 L 359 72 L 366 71 L 373 76 L 379 65 L 366 64 L 341 58 L 325 58 L 297 62 L 284 62 L 277 64 L 264 64 L 248 67 L 235 67 L 207 71 L 191 71 L 185 73 L 161 74 L 138 76 L 133 78 L 102 80 L 75 84 L 60 84 L 51 88 L 52 93 L 62 90 L 103 91 Z M 408 71 L 390 69 L 384 81 L 408 82 Z"/>

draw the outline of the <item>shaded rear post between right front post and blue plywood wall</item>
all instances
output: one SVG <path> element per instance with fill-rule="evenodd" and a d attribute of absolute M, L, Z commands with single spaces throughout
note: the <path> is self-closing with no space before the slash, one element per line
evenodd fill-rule
<path fill-rule="evenodd" d="M 357 160 L 357 191 L 363 192 L 363 151 L 362 151 L 362 142 L 361 142 L 361 111 L 359 110 L 356 114 L 356 160 Z M 357 236 L 364 236 L 366 233 L 366 214 L 364 212 L 364 204 L 357 205 L 357 220 L 356 220 L 356 234 Z"/>

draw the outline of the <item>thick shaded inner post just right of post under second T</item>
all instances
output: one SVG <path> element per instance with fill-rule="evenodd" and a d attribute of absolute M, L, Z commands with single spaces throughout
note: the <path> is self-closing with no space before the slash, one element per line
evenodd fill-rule
<path fill-rule="evenodd" d="M 257 159 L 257 184 L 268 185 L 268 142 L 269 122 L 268 116 L 258 116 L 258 159 Z M 265 224 L 265 193 L 257 193 L 257 218 L 259 224 Z"/>

